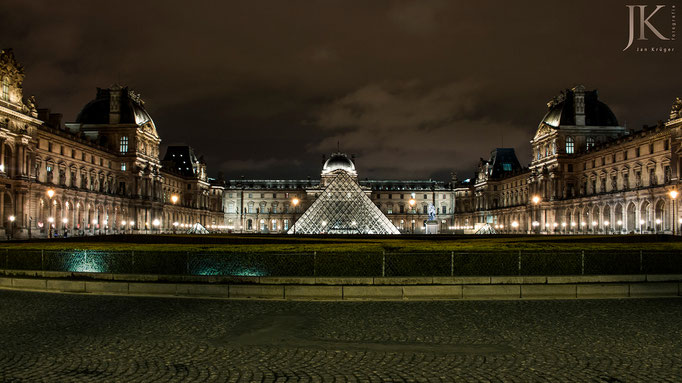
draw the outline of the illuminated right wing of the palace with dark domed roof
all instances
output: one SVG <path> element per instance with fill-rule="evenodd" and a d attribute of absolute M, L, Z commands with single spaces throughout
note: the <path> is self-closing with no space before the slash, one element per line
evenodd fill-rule
<path fill-rule="evenodd" d="M 679 234 L 679 98 L 667 122 L 640 131 L 620 126 L 597 92 L 583 86 L 547 106 L 531 140 L 530 166 L 521 169 L 512 149 L 481 161 L 476 177 L 456 188 L 455 226 L 488 223 L 502 233 Z"/>

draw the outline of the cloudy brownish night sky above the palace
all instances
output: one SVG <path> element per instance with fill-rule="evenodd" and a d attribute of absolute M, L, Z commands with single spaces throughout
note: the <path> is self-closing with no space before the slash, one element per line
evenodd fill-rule
<path fill-rule="evenodd" d="M 682 44 L 650 37 L 676 51 L 623 52 L 623 1 L 0 3 L 38 107 L 74 121 L 96 87 L 129 85 L 162 153 L 192 145 L 228 178 L 315 178 L 337 142 L 361 178 L 461 179 L 502 145 L 527 165 L 546 102 L 578 83 L 655 124 L 682 97 Z"/>

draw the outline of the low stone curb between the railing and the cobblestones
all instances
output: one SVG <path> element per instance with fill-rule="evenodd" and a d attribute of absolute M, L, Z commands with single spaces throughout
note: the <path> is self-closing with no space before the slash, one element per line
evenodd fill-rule
<path fill-rule="evenodd" d="M 613 276 L 612 276 L 613 277 Z M 570 283 L 550 283 L 548 278 L 517 280 L 519 277 L 499 277 L 488 284 L 293 284 L 293 283 L 160 283 L 111 280 L 66 280 L 52 278 L 0 277 L 0 288 L 84 294 L 153 295 L 180 297 L 218 297 L 229 299 L 277 300 L 475 300 L 475 299 L 594 299 L 679 297 L 682 278 L 658 276 L 660 281 L 648 281 L 626 276 L 625 280 L 604 281 L 591 276 L 589 282 L 576 282 L 584 277 L 572 277 Z M 511 278 L 511 279 L 509 279 Z M 526 278 L 526 277 L 521 277 Z M 544 283 L 534 283 L 542 281 Z M 626 281 L 626 280 L 630 281 Z M 338 282 L 346 281 L 338 278 Z M 292 282 L 288 280 L 287 282 Z M 282 282 L 282 281 L 280 281 Z M 351 279 L 352 282 L 352 279 Z M 373 281 L 375 282 L 375 281 Z M 382 280 L 380 282 L 386 282 Z M 397 280 L 395 282 L 398 282 Z M 405 282 L 405 280 L 403 280 Z M 514 283 L 516 282 L 516 283 Z M 525 282 L 525 283 L 519 283 Z"/>

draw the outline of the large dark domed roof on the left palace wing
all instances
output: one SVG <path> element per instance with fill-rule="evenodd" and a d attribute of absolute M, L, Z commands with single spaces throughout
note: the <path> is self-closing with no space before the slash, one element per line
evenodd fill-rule
<path fill-rule="evenodd" d="M 87 103 L 76 117 L 80 124 L 110 124 L 112 104 L 111 95 L 119 95 L 119 124 L 144 125 L 152 122 L 152 118 L 144 109 L 144 101 L 140 96 L 130 91 L 127 87 L 122 88 L 114 85 L 111 89 L 97 88 L 97 97 Z"/>

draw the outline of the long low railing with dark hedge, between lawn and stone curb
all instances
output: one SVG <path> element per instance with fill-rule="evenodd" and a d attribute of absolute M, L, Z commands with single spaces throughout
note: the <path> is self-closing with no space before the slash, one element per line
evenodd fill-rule
<path fill-rule="evenodd" d="M 682 274 L 682 253 L 639 250 L 234 253 L 6 249 L 0 250 L 0 269 L 320 277 Z"/>

